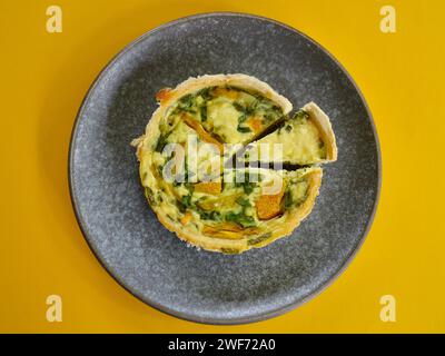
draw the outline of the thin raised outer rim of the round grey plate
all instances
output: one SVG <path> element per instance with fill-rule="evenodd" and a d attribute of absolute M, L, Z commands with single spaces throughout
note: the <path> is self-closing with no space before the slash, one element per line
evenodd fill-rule
<path fill-rule="evenodd" d="M 166 28 L 169 28 L 171 26 L 177 26 L 177 24 L 180 24 L 184 22 L 194 21 L 194 20 L 202 19 L 202 18 L 211 18 L 211 17 L 240 17 L 240 18 L 257 19 L 257 20 L 261 20 L 265 22 L 274 23 L 274 24 L 283 27 L 291 32 L 295 32 L 296 34 L 305 38 L 307 41 L 309 41 L 310 43 L 313 43 L 314 46 L 319 48 L 325 55 L 327 55 L 335 62 L 335 65 L 342 70 L 342 72 L 346 76 L 346 78 L 353 85 L 354 89 L 357 91 L 357 93 L 364 105 L 364 108 L 366 110 L 366 113 L 369 118 L 370 128 L 372 128 L 373 136 L 374 136 L 374 139 L 376 142 L 376 154 L 377 154 L 377 189 L 376 189 L 376 194 L 375 194 L 373 209 L 368 217 L 368 221 L 366 224 L 366 228 L 365 228 L 364 233 L 362 234 L 362 237 L 359 238 L 358 243 L 353 248 L 353 250 L 349 253 L 347 258 L 344 260 L 340 268 L 338 268 L 338 270 L 335 274 L 333 274 L 330 276 L 330 278 L 327 281 L 325 281 L 324 284 L 322 284 L 317 289 L 313 290 L 306 297 L 304 297 L 297 301 L 289 303 L 285 306 L 276 308 L 274 310 L 260 313 L 257 315 L 246 316 L 246 317 L 236 317 L 236 318 L 200 317 L 200 316 L 197 316 L 196 314 L 178 312 L 178 310 L 171 309 L 167 306 L 164 306 L 159 303 L 156 303 L 155 300 L 151 300 L 150 298 L 147 298 L 144 295 L 139 294 L 138 291 L 134 290 L 131 286 L 127 286 L 126 283 L 122 280 L 122 278 L 119 276 L 119 274 L 117 274 L 115 268 L 105 261 L 105 259 L 100 255 L 99 249 L 96 248 L 96 246 L 93 244 L 93 239 L 91 239 L 90 233 L 88 231 L 88 226 L 83 221 L 81 214 L 79 211 L 79 208 L 78 208 L 79 202 L 78 202 L 78 199 L 77 199 L 77 196 L 75 192 L 75 188 L 73 188 L 73 166 L 75 166 L 73 165 L 73 156 L 75 156 L 73 151 L 76 148 L 75 142 L 77 140 L 78 127 L 81 122 L 80 118 L 83 116 L 83 110 L 86 108 L 87 101 L 89 100 L 89 98 L 91 96 L 91 92 L 96 89 L 98 82 L 102 79 L 105 73 L 115 65 L 115 62 L 117 62 L 123 55 L 126 55 L 137 43 L 139 43 L 140 41 L 145 40 L 146 38 L 152 36 L 152 34 L 155 34 L 156 32 L 164 30 Z M 120 49 L 117 52 L 117 55 L 115 55 L 99 71 L 99 73 L 96 76 L 95 80 L 90 85 L 89 89 L 87 90 L 87 92 L 80 103 L 79 110 L 76 115 L 73 125 L 72 125 L 71 136 L 70 136 L 70 140 L 69 140 L 69 149 L 68 149 L 68 186 L 69 186 L 69 195 L 70 195 L 71 206 L 72 206 L 72 209 L 73 209 L 73 212 L 76 216 L 76 220 L 80 228 L 80 231 L 82 233 L 85 240 L 87 241 L 88 247 L 90 248 L 90 250 L 92 251 L 92 254 L 95 255 L 95 257 L 99 261 L 99 264 L 111 276 L 111 278 L 116 283 L 118 283 L 118 285 L 120 285 L 123 289 L 126 289 L 130 295 L 132 295 L 134 297 L 136 297 L 137 299 L 142 301 L 144 304 L 157 309 L 158 312 L 165 313 L 167 315 L 170 315 L 170 316 L 174 316 L 176 318 L 184 319 L 187 322 L 194 322 L 194 323 L 206 324 L 206 325 L 240 325 L 240 324 L 249 324 L 249 323 L 256 323 L 256 322 L 270 319 L 270 318 L 280 316 L 283 314 L 286 314 L 290 310 L 296 309 L 297 307 L 301 306 L 303 304 L 306 304 L 307 301 L 312 300 L 313 298 L 315 298 L 316 296 L 322 294 L 325 289 L 327 289 L 335 280 L 338 279 L 338 277 L 352 264 L 354 258 L 357 256 L 358 251 L 362 249 L 362 246 L 364 245 L 364 243 L 369 234 L 370 227 L 373 226 L 373 222 L 374 222 L 374 219 L 376 216 L 378 202 L 380 199 L 380 191 L 382 191 L 382 151 L 380 151 L 380 142 L 379 142 L 379 138 L 378 138 L 378 134 L 377 134 L 377 128 L 376 128 L 376 125 L 374 121 L 374 117 L 373 117 L 373 113 L 369 109 L 369 106 L 368 106 L 365 97 L 362 93 L 362 90 L 359 89 L 359 87 L 357 86 L 357 83 L 355 82 L 353 77 L 349 75 L 349 72 L 345 69 L 345 67 L 325 47 L 323 47 L 320 43 L 318 43 L 317 41 L 312 39 L 309 36 L 305 34 L 300 30 L 295 29 L 295 28 L 290 27 L 289 24 L 280 22 L 278 20 L 270 19 L 270 18 L 267 18 L 264 16 L 258 16 L 258 14 L 247 13 L 247 12 L 236 12 L 236 11 L 201 12 L 201 13 L 195 13 L 195 14 L 181 17 L 176 20 L 171 20 L 171 21 L 161 23 L 161 24 L 144 32 L 141 36 L 139 36 L 138 38 L 132 40 L 130 43 L 126 44 L 122 49 Z"/>

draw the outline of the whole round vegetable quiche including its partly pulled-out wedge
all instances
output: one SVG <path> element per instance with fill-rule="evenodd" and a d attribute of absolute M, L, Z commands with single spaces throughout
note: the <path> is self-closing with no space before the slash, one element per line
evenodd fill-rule
<path fill-rule="evenodd" d="M 246 75 L 190 78 L 156 98 L 132 145 L 147 200 L 168 230 L 198 248 L 240 254 L 291 234 L 312 211 L 319 164 L 337 158 L 315 103 L 290 116 L 289 100 Z M 275 162 L 266 154 L 277 156 L 278 144 L 278 161 L 294 169 L 263 165 Z"/>

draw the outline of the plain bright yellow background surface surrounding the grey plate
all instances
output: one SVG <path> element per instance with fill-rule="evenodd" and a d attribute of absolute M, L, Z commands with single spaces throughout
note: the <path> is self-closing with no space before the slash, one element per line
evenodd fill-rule
<path fill-rule="evenodd" d="M 379 30 L 388 3 L 394 34 Z M 51 4 L 62 33 L 46 31 Z M 101 68 L 145 31 L 215 10 L 267 16 L 326 47 L 363 90 L 383 152 L 376 219 L 353 264 L 306 305 L 241 326 L 179 320 L 123 290 L 83 240 L 67 181 L 72 123 Z M 441 0 L 1 0 L 0 332 L 445 332 L 444 12 Z M 62 323 L 46 320 L 51 294 Z M 379 319 L 386 294 L 396 323 Z"/>

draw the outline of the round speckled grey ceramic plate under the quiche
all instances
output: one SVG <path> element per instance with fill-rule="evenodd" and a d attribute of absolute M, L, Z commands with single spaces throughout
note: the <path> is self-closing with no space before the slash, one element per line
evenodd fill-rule
<path fill-rule="evenodd" d="M 332 118 L 339 158 L 325 166 L 316 206 L 290 237 L 225 256 L 188 248 L 160 225 L 129 142 L 144 132 L 160 88 L 235 72 L 268 82 L 294 108 L 317 102 Z M 339 63 L 296 30 L 239 13 L 180 19 L 122 50 L 82 103 L 69 169 L 80 227 L 108 271 L 155 308 L 211 324 L 269 318 L 318 294 L 362 245 L 380 181 L 372 117 Z"/>

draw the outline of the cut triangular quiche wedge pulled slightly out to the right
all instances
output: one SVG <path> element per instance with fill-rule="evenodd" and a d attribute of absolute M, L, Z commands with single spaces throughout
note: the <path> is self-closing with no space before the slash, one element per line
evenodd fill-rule
<path fill-rule="evenodd" d="M 244 151 L 247 162 L 314 165 L 337 160 L 337 146 L 327 115 L 314 102 Z"/>

